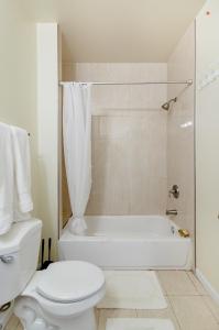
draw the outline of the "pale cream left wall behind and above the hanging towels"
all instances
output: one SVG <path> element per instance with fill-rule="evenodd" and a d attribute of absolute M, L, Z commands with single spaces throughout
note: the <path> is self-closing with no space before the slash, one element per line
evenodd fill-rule
<path fill-rule="evenodd" d="M 36 35 L 19 1 L 0 1 L 0 121 L 31 133 L 34 213 L 37 215 Z"/>

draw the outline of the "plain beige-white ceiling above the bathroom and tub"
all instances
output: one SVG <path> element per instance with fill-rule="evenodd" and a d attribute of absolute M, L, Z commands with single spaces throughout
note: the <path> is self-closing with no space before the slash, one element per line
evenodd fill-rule
<path fill-rule="evenodd" d="M 24 0 L 57 21 L 66 62 L 166 62 L 205 0 Z M 25 3 L 25 4 L 26 4 Z"/>

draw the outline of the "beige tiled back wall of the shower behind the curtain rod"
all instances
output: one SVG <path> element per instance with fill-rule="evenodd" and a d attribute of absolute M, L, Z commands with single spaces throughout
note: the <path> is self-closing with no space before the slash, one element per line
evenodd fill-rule
<path fill-rule="evenodd" d="M 80 81 L 167 79 L 163 63 L 65 64 L 63 73 L 66 80 Z M 88 215 L 165 212 L 167 113 L 161 110 L 165 101 L 165 85 L 92 88 L 92 189 Z M 67 199 L 64 200 L 66 210 Z"/>

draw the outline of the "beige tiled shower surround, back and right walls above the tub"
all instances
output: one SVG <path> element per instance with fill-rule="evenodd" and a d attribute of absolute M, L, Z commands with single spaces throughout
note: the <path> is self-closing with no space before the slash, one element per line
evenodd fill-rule
<path fill-rule="evenodd" d="M 172 55 L 168 79 L 193 78 L 193 33 L 191 26 Z M 167 66 L 66 64 L 65 76 L 70 75 L 87 81 L 166 80 Z M 178 91 L 172 87 L 168 95 Z M 167 186 L 176 183 L 180 199 L 168 200 L 168 207 L 178 209 L 177 223 L 193 233 L 194 128 L 180 127 L 193 122 L 193 88 L 182 95 L 169 114 L 160 111 L 166 92 L 166 86 L 153 85 L 94 87 L 92 112 L 99 117 L 92 117 L 94 179 L 88 215 L 164 213 Z"/>

